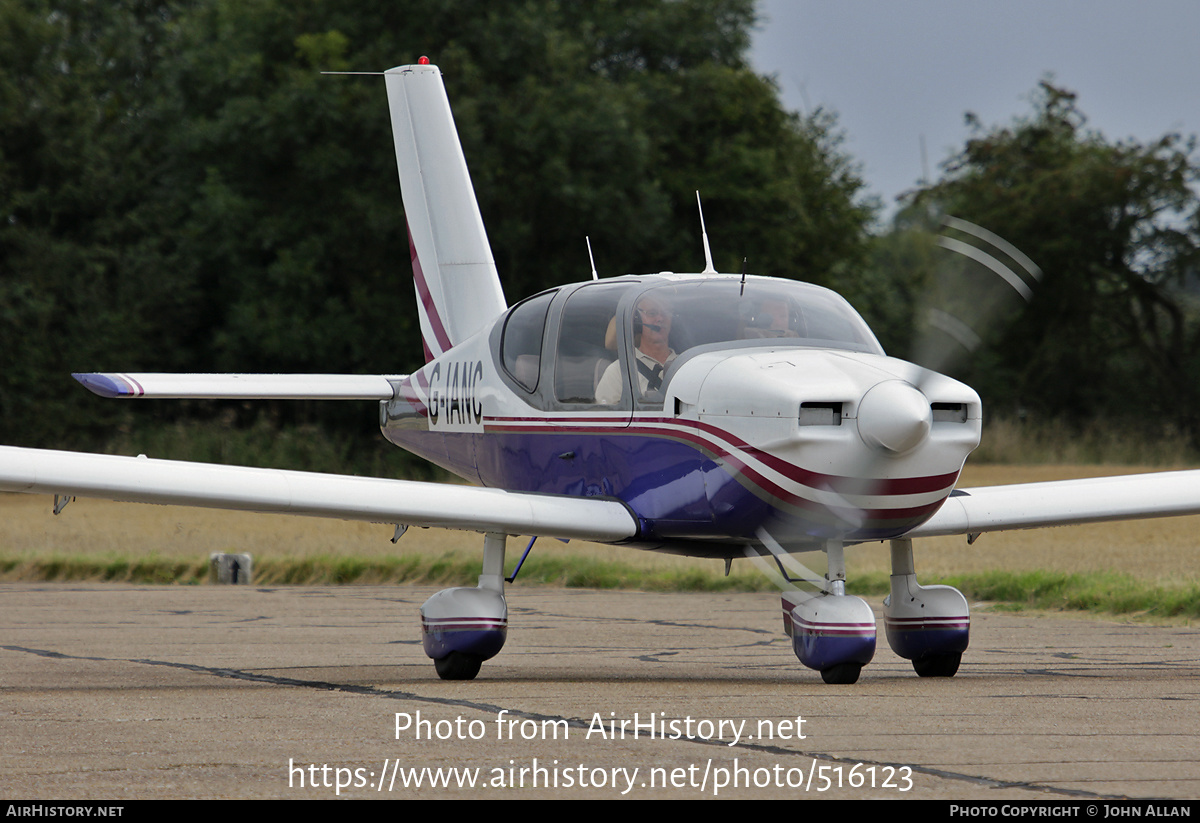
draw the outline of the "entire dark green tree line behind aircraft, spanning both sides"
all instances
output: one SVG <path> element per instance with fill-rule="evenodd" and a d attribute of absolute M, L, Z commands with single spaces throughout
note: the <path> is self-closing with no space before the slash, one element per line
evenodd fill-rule
<path fill-rule="evenodd" d="M 510 302 L 587 277 L 584 235 L 604 276 L 698 270 L 700 190 L 719 269 L 836 288 L 904 355 L 936 257 L 914 215 L 944 211 L 1046 272 L 964 367 L 988 407 L 1195 434 L 1190 144 L 1106 143 L 1048 90 L 880 230 L 834 116 L 749 66 L 754 24 L 750 0 L 0 0 L 0 441 L 194 456 L 170 433 L 200 417 L 292 464 L 282 433 L 349 444 L 307 468 L 376 447 L 370 404 L 103 402 L 70 373 L 415 368 L 383 82 L 320 72 L 420 55 Z"/>

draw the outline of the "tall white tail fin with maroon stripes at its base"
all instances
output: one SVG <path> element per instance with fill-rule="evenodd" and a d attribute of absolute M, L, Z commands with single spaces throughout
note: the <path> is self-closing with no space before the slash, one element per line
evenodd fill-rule
<path fill-rule="evenodd" d="M 508 304 L 442 72 L 398 66 L 384 77 L 428 361 L 481 330 Z"/>

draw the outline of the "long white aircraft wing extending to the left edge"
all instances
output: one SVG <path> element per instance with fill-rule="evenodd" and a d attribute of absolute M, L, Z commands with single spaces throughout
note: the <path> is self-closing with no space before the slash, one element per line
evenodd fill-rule
<path fill-rule="evenodd" d="M 0 446 L 0 492 L 96 497 L 617 542 L 625 504 L 449 483 Z"/>

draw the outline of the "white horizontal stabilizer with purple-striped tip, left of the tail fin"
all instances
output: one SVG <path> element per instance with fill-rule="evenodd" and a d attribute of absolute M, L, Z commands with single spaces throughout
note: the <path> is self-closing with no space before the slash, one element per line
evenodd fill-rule
<path fill-rule="evenodd" d="M 391 400 L 403 374 L 73 374 L 101 397 L 206 400 Z"/>

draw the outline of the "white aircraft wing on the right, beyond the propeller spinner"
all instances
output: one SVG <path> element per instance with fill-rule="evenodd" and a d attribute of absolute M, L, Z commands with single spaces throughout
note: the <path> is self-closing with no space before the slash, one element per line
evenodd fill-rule
<path fill-rule="evenodd" d="M 955 489 L 905 537 L 1200 515 L 1200 471 L 1057 480 Z"/>

